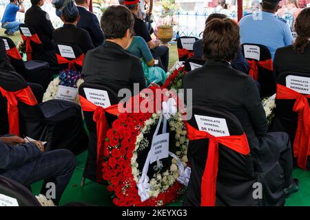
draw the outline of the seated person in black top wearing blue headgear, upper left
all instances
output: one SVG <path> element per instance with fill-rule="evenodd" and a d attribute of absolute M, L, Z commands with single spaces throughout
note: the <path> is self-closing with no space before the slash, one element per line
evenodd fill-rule
<path fill-rule="evenodd" d="M 82 28 L 77 28 L 76 24 L 79 22 L 79 10 L 74 5 L 74 2 L 70 0 L 68 5 L 63 8 L 61 14 L 61 20 L 64 25 L 62 28 L 58 28 L 53 33 L 53 39 L 55 43 L 70 43 L 77 45 L 81 48 L 84 54 L 88 50 L 92 50 L 94 45 L 90 34 Z"/>

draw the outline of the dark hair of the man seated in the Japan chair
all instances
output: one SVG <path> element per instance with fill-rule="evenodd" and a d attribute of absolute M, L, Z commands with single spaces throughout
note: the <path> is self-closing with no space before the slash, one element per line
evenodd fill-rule
<path fill-rule="evenodd" d="M 134 27 L 134 16 L 123 5 L 108 7 L 101 17 L 101 29 L 106 39 L 122 39 Z"/>

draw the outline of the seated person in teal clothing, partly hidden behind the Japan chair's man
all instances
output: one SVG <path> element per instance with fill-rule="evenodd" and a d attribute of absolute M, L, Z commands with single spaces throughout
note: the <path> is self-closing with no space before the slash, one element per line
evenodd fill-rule
<path fill-rule="evenodd" d="M 151 83 L 163 84 L 167 78 L 166 72 L 161 67 L 154 67 L 154 58 L 147 46 L 147 43 L 141 36 L 132 36 L 126 47 L 126 51 L 140 58 L 144 76 L 147 80 L 147 85 Z"/>

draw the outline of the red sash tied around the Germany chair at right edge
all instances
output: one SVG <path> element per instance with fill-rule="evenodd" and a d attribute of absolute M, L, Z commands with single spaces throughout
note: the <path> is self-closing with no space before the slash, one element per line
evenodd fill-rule
<path fill-rule="evenodd" d="M 307 156 L 310 155 L 310 95 L 302 95 L 284 85 L 277 84 L 276 99 L 295 99 L 293 111 L 298 113 L 298 124 L 293 144 L 294 157 L 297 164 L 306 169 Z"/>

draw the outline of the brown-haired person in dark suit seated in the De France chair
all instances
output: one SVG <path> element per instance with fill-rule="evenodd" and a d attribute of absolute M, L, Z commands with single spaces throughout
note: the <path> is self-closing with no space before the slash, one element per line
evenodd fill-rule
<path fill-rule="evenodd" d="M 233 69 L 229 63 L 240 48 L 238 24 L 231 19 L 210 21 L 203 42 L 207 62 L 183 78 L 183 89 L 192 89 L 193 106 L 225 109 L 236 115 L 247 135 L 254 167 L 267 170 L 270 162 L 279 162 L 283 174 L 277 175 L 284 175 L 285 194 L 298 190 L 297 180 L 293 181 L 292 176 L 289 136 L 282 132 L 267 133 L 265 111 L 253 78 Z"/>

